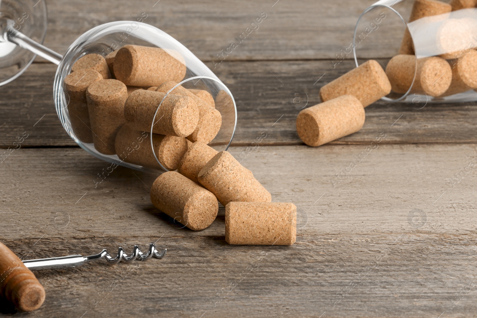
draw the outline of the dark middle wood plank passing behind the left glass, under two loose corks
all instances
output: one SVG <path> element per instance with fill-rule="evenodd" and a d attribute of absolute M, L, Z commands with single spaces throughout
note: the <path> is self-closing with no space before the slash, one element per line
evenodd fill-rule
<path fill-rule="evenodd" d="M 319 103 L 320 87 L 352 67 L 351 61 L 336 68 L 331 61 L 220 64 L 214 71 L 238 105 L 233 144 L 250 145 L 262 132 L 267 133 L 263 141 L 267 145 L 301 144 L 295 128 L 299 109 Z M 23 146 L 75 145 L 54 110 L 55 66 L 36 63 L 30 69 L 15 82 L 0 87 L 0 146 L 11 146 L 23 132 L 29 133 Z M 423 101 L 416 105 L 380 101 L 368 106 L 363 129 L 333 144 L 369 144 L 383 131 L 388 133 L 384 143 L 477 142 L 475 103 L 428 104 L 418 109 L 423 105 Z"/>

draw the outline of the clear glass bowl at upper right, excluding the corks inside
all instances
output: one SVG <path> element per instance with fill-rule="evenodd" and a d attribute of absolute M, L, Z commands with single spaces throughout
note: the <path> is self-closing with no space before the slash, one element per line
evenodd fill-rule
<path fill-rule="evenodd" d="M 417 59 L 440 56 L 445 58 L 451 67 L 455 61 L 449 55 L 454 51 L 472 50 L 477 47 L 477 9 L 462 9 L 424 17 L 415 21 L 409 20 L 414 0 L 380 0 L 366 8 L 358 18 L 354 29 L 353 42 L 348 48 L 337 54 L 339 64 L 353 52 L 356 66 L 359 66 L 358 59 L 373 59 L 378 61 L 384 70 L 389 57 L 399 54 L 400 46 L 405 32 L 411 35 L 414 46 L 416 63 L 414 65 L 414 78 L 407 92 L 391 92 L 382 98 L 387 102 L 405 103 L 456 103 L 477 101 L 477 92 L 469 89 L 453 95 L 433 97 L 425 93 L 413 92 L 413 85 L 416 79 Z M 447 6 L 447 5 L 446 5 Z M 450 7 L 450 6 L 449 6 Z M 447 7 L 446 7 L 447 8 Z M 445 27 L 456 25 L 451 32 L 443 32 Z M 470 26 L 466 31 L 459 26 Z M 444 40 L 443 34 L 446 34 Z M 458 38 L 458 39 L 456 39 Z M 452 42 L 452 45 L 444 46 L 445 41 Z M 409 53 L 408 53 L 409 54 Z M 465 55 L 465 54 L 464 54 Z M 476 74 L 477 76 L 477 74 Z"/>

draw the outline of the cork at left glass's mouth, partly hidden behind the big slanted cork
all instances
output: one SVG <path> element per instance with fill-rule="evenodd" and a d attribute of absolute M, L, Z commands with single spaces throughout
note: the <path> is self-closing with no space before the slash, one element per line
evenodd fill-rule
<path fill-rule="evenodd" d="M 218 151 L 214 148 L 207 146 L 205 143 L 195 142 L 189 146 L 182 157 L 177 172 L 199 183 L 197 175 L 216 154 L 218 154 Z"/>

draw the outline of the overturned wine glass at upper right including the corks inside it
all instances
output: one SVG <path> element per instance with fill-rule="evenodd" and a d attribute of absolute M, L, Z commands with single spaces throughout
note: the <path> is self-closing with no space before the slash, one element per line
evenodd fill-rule
<path fill-rule="evenodd" d="M 356 66 L 358 59 L 379 62 L 392 85 L 382 98 L 386 102 L 477 101 L 477 8 L 472 1 L 446 2 L 373 3 L 358 18 L 353 42 L 333 64 L 348 55 Z"/>

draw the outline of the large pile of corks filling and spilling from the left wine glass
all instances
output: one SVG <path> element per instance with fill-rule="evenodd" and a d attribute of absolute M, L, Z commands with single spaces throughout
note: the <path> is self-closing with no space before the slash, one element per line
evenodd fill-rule
<path fill-rule="evenodd" d="M 205 90 L 180 85 L 167 94 L 186 71 L 177 51 L 155 47 L 84 55 L 64 80 L 74 134 L 127 163 L 162 170 L 158 160 L 169 171 L 152 185 L 151 201 L 184 227 L 210 226 L 220 202 L 229 244 L 293 244 L 296 206 L 272 203 L 251 171 L 207 145 L 222 124 L 216 104 L 233 107 L 230 96 L 219 91 L 214 100 Z"/>

